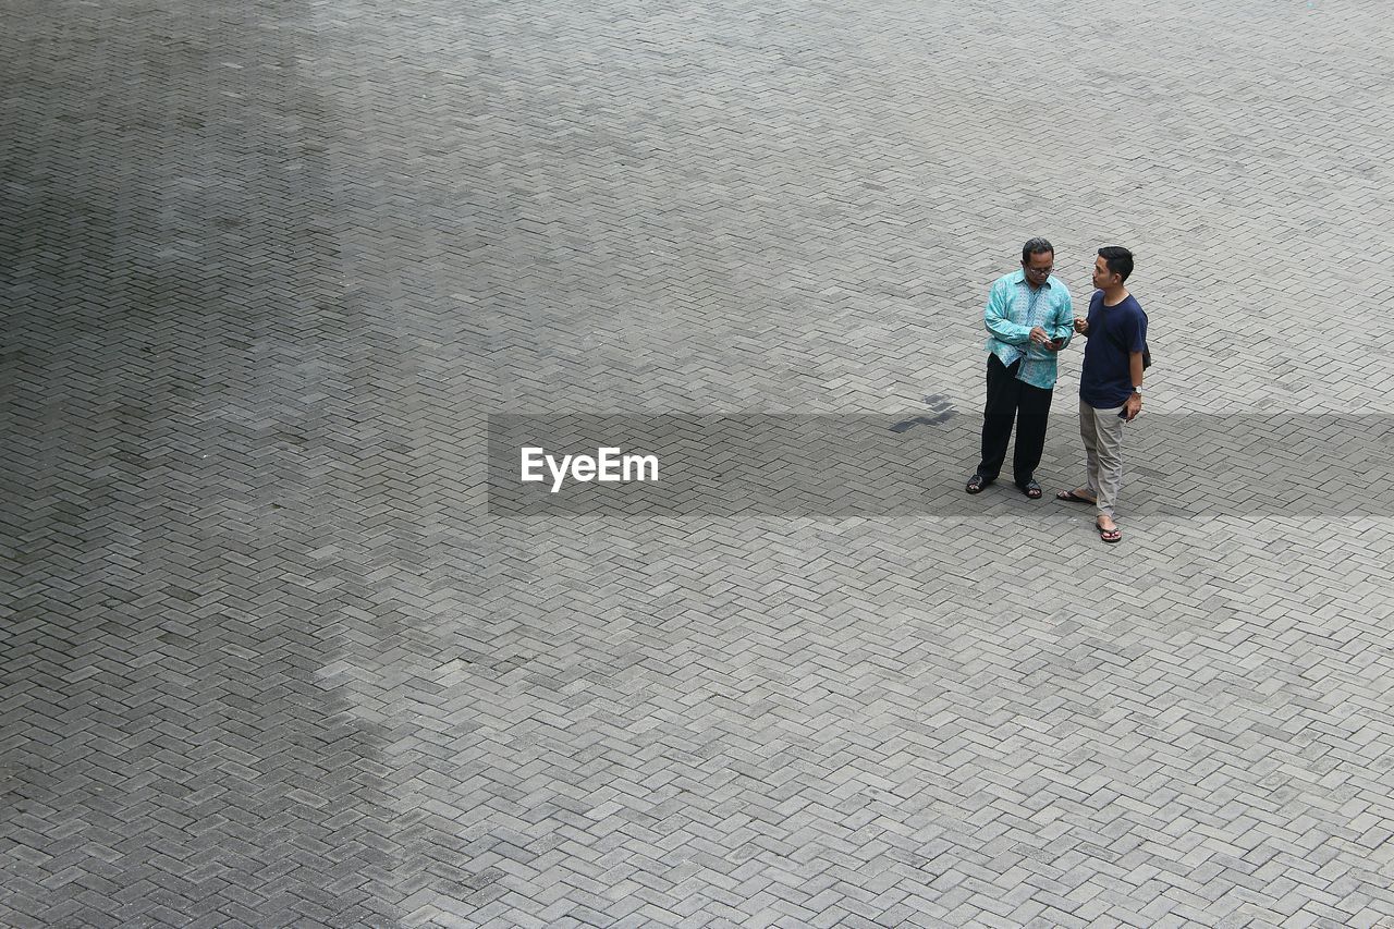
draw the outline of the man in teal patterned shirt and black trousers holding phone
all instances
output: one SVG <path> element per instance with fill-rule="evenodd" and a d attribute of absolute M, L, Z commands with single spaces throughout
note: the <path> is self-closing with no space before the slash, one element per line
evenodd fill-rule
<path fill-rule="evenodd" d="M 1036 466 L 1046 448 L 1046 423 L 1055 392 L 1055 356 L 1069 345 L 1073 308 L 1069 290 L 1051 276 L 1055 248 L 1044 239 L 1022 246 L 1022 268 L 998 278 L 988 292 L 987 403 L 983 409 L 983 458 L 969 478 L 969 494 L 997 480 L 1006 442 L 1016 424 L 1012 480 L 1040 499 Z"/>

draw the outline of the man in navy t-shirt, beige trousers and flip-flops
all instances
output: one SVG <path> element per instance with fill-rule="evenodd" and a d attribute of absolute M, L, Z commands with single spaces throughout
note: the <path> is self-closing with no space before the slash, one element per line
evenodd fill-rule
<path fill-rule="evenodd" d="M 1142 411 L 1142 358 L 1147 345 L 1147 314 L 1124 282 L 1132 273 L 1132 252 L 1105 246 L 1094 259 L 1094 296 L 1089 315 L 1075 318 L 1086 336 L 1079 375 L 1079 435 L 1085 439 L 1089 485 L 1058 491 L 1058 499 L 1093 504 L 1094 527 L 1105 543 L 1124 534 L 1114 522 L 1114 504 L 1124 478 L 1124 424 Z"/>

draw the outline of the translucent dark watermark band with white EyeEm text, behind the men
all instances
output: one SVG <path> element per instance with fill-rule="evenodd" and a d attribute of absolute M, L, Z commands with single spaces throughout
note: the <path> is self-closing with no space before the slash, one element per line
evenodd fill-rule
<path fill-rule="evenodd" d="M 845 416 L 491 413 L 488 511 L 499 518 L 1073 518 L 1064 506 L 1027 509 L 1009 492 L 965 494 L 963 469 L 972 464 L 963 462 L 976 460 L 980 430 L 972 417 L 941 413 L 933 405 Z M 1051 421 L 1041 473 L 1065 487 L 1082 480 L 1085 453 L 1078 423 Z M 1128 505 L 1149 519 L 1230 513 L 1235 499 L 1245 513 L 1285 518 L 1394 513 L 1387 492 L 1394 416 L 1154 411 L 1128 428 L 1138 430 L 1128 437 L 1138 462 L 1128 466 L 1136 476 Z M 1236 460 L 1246 463 L 1238 471 Z M 1221 473 L 1230 476 L 1223 487 L 1214 481 Z M 1352 492 L 1324 492 L 1333 481 Z"/>

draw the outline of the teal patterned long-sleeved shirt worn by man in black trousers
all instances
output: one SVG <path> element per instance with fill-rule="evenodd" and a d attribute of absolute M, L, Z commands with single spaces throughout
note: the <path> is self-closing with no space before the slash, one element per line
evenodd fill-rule
<path fill-rule="evenodd" d="M 1002 364 L 1011 367 L 1022 360 L 1016 379 L 1047 391 L 1055 386 L 1058 353 L 1032 345 L 1030 338 L 1032 328 L 1040 326 L 1051 339 L 1065 339 L 1068 345 L 1075 332 L 1069 290 L 1054 275 L 1039 289 L 1026 283 L 1025 271 L 998 278 L 987 294 L 983 325 L 990 333 L 987 350 Z"/>

